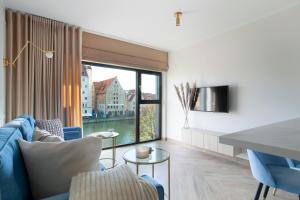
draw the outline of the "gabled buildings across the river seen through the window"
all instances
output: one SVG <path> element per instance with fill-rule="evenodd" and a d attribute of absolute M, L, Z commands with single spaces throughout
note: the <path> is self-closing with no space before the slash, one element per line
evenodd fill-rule
<path fill-rule="evenodd" d="M 84 118 L 112 118 L 135 116 L 136 91 L 124 90 L 118 77 L 102 81 L 92 80 L 92 68 L 83 65 L 81 76 L 82 116 Z M 142 99 L 154 94 L 143 93 Z"/>

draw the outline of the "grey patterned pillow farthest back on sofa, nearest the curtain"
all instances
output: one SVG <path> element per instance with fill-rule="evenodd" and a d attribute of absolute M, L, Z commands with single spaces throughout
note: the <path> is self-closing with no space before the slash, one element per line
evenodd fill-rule
<path fill-rule="evenodd" d="M 60 119 L 36 120 L 36 126 L 64 138 L 63 124 Z"/>

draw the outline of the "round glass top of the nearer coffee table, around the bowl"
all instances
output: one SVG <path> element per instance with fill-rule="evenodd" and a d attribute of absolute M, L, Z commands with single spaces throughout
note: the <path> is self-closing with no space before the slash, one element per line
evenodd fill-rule
<path fill-rule="evenodd" d="M 166 150 L 152 147 L 152 152 L 149 155 L 149 157 L 141 159 L 136 157 L 136 149 L 131 149 L 128 150 L 124 153 L 123 159 L 126 162 L 134 163 L 134 164 L 156 164 L 156 163 L 161 163 L 170 158 L 170 153 L 167 152 Z"/>

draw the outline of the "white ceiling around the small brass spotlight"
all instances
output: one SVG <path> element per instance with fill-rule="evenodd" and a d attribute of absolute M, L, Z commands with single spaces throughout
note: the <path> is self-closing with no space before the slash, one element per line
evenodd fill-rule
<path fill-rule="evenodd" d="M 300 0 L 4 0 L 7 8 L 172 51 L 194 45 Z M 181 10 L 182 26 L 174 11 Z"/>

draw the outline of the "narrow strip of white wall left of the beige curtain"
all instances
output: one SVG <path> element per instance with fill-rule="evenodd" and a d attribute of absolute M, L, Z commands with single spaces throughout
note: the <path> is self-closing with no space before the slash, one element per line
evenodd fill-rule
<path fill-rule="evenodd" d="M 5 52 L 5 8 L 0 0 L 0 126 L 5 121 L 5 68 L 2 60 Z"/>

